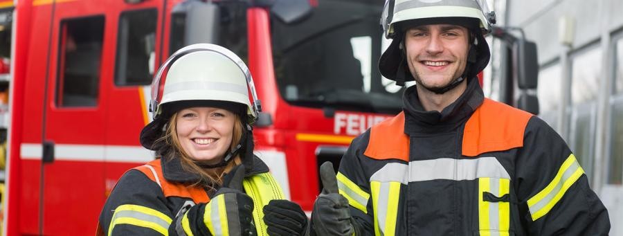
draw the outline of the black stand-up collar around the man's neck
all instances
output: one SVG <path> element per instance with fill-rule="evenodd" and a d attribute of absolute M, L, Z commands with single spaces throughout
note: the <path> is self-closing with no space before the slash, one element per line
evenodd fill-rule
<path fill-rule="evenodd" d="M 417 85 L 416 85 L 417 86 Z M 402 97 L 405 114 L 404 132 L 413 134 L 435 134 L 453 131 L 460 127 L 485 100 L 477 78 L 467 80 L 467 89 L 448 107 L 439 111 L 425 111 L 417 98 L 415 86 L 404 91 Z"/>

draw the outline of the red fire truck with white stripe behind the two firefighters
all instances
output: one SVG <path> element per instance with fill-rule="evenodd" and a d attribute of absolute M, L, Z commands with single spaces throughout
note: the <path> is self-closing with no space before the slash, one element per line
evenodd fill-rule
<path fill-rule="evenodd" d="M 376 69 L 380 0 L 17 0 L 12 12 L 7 235 L 89 235 L 138 143 L 149 84 L 197 42 L 240 55 L 262 114 L 256 151 L 305 210 L 318 165 L 400 110 Z M 1 7 L 1 6 L 0 6 Z"/>

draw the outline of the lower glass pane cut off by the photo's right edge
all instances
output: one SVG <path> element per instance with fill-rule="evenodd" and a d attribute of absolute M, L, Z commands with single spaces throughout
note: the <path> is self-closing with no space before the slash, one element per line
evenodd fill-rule
<path fill-rule="evenodd" d="M 621 69 L 619 64 L 618 70 Z M 612 118 L 612 140 L 608 163 L 608 183 L 621 185 L 623 182 L 623 97 L 615 98 Z"/>

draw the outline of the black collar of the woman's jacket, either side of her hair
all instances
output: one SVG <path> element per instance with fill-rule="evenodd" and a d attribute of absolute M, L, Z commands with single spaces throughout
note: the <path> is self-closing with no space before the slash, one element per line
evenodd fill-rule
<path fill-rule="evenodd" d="M 244 176 L 269 172 L 269 167 L 258 156 L 253 155 L 251 168 L 246 168 Z M 179 158 L 162 158 L 162 174 L 168 181 L 196 182 L 199 175 L 184 170 Z"/>

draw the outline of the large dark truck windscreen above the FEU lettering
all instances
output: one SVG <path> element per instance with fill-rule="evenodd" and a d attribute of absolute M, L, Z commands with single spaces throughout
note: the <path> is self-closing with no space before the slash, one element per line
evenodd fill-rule
<path fill-rule="evenodd" d="M 404 89 L 382 80 L 379 18 L 383 1 L 319 0 L 295 24 L 273 17 L 280 94 L 291 105 L 395 114 Z"/>

